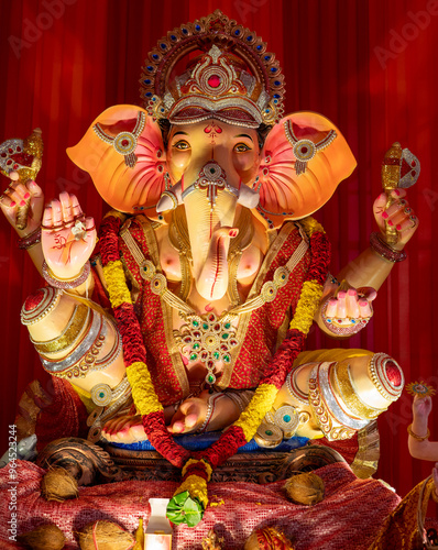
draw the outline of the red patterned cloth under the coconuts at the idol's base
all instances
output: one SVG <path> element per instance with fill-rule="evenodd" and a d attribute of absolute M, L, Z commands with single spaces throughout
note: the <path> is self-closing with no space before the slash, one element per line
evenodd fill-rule
<path fill-rule="evenodd" d="M 40 495 L 44 470 L 33 463 L 17 462 L 18 532 L 54 522 L 66 535 L 66 549 L 77 549 L 74 532 L 98 519 L 117 521 L 134 531 L 139 518 L 147 524 L 149 498 L 171 498 L 173 482 L 120 482 L 81 487 L 79 498 L 47 503 Z M 295 542 L 296 550 L 365 550 L 399 497 L 376 480 L 359 480 L 344 463 L 316 471 L 326 484 L 321 503 L 314 507 L 291 504 L 283 492 L 284 482 L 267 485 L 211 483 L 204 520 L 196 527 L 178 526 L 173 531 L 173 549 L 200 550 L 208 530 L 216 527 L 225 537 L 227 550 L 242 549 L 253 529 L 276 526 Z M 10 466 L 0 470 L 0 548 L 18 548 L 8 540 L 9 505 L 12 487 Z M 215 506 L 216 503 L 216 506 Z"/>

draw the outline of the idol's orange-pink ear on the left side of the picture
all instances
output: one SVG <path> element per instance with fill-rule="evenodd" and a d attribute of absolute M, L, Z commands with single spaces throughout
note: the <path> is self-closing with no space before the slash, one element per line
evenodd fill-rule
<path fill-rule="evenodd" d="M 122 212 L 157 216 L 167 168 L 160 127 L 140 107 L 120 105 L 103 111 L 80 142 L 67 148 L 88 172 L 102 199 Z"/>

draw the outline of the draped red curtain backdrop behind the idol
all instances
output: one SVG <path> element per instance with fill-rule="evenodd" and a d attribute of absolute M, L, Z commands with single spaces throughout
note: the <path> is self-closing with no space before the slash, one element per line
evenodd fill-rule
<path fill-rule="evenodd" d="M 384 351 L 399 361 L 407 382 L 423 378 L 437 386 L 436 0 L 2 0 L 0 142 L 42 128 L 45 152 L 39 183 L 47 200 L 66 189 L 77 194 L 87 215 L 100 220 L 106 206 L 65 148 L 107 107 L 139 103 L 140 67 L 156 41 L 216 8 L 267 41 L 286 75 L 286 111 L 327 116 L 358 160 L 353 175 L 317 215 L 333 244 L 333 273 L 366 248 L 374 230 L 372 204 L 381 193 L 384 152 L 399 141 L 419 157 L 421 176 L 409 201 L 420 227 L 407 248 L 408 260 L 394 267 L 379 293 L 374 318 L 360 336 L 339 343 L 315 329 L 309 346 Z M 1 185 L 7 187 L 6 178 Z M 42 279 L 15 243 L 1 219 L 0 454 L 25 385 L 34 378 L 47 382 L 19 318 L 23 300 Z M 437 410 L 438 397 L 430 422 L 435 439 Z M 402 495 L 431 468 L 407 452 L 409 422 L 406 394 L 379 421 L 377 477 Z"/>

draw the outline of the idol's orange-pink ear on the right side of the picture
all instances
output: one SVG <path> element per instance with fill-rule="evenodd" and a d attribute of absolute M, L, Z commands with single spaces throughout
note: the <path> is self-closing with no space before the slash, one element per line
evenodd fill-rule
<path fill-rule="evenodd" d="M 288 114 L 270 132 L 259 169 L 258 212 L 270 227 L 315 212 L 354 169 L 340 131 L 316 112 Z"/>

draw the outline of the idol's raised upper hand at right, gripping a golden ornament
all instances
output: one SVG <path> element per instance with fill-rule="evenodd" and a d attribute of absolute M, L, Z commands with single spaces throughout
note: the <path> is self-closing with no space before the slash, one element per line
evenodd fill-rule
<path fill-rule="evenodd" d="M 412 239 L 418 228 L 418 218 L 406 200 L 405 189 L 394 189 L 391 191 L 394 202 L 385 210 L 387 196 L 385 193 L 380 195 L 373 205 L 374 218 L 385 240 L 385 222 L 397 231 L 397 243 L 391 244 L 395 250 L 402 250 Z"/>

